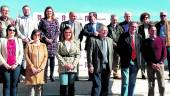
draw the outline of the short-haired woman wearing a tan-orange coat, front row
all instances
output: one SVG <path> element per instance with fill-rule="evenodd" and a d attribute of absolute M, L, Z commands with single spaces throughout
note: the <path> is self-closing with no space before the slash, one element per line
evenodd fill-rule
<path fill-rule="evenodd" d="M 44 69 L 48 54 L 45 44 L 40 42 L 40 30 L 33 30 L 31 34 L 32 43 L 25 48 L 26 85 L 29 86 L 29 96 L 41 96 L 42 85 L 44 84 Z"/>

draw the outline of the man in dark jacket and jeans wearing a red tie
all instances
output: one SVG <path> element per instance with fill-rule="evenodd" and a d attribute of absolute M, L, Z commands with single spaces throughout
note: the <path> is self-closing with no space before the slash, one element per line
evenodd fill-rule
<path fill-rule="evenodd" d="M 141 36 L 137 34 L 137 27 L 136 22 L 131 22 L 129 31 L 121 34 L 117 43 L 122 77 L 121 96 L 134 96 L 142 43 Z"/>

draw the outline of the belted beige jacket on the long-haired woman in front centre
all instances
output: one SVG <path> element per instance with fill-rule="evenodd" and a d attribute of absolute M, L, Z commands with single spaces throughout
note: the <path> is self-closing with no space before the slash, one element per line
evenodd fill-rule
<path fill-rule="evenodd" d="M 71 41 L 71 48 L 68 51 L 65 42 L 59 42 L 57 48 L 58 71 L 59 73 L 68 72 L 64 65 L 72 64 L 74 69 L 69 72 L 77 72 L 77 64 L 80 59 L 80 43 L 77 40 Z"/>

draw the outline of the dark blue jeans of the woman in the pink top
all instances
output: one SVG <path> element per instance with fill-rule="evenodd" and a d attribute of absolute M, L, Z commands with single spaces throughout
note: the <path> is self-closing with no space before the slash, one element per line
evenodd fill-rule
<path fill-rule="evenodd" d="M 17 84 L 19 81 L 21 65 L 15 70 L 3 69 L 3 96 L 17 96 Z"/>

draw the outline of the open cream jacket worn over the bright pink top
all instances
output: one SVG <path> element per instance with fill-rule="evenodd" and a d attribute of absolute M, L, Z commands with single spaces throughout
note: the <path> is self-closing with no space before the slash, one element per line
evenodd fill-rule
<path fill-rule="evenodd" d="M 7 64 L 7 38 L 0 38 L 0 65 Z M 16 64 L 21 65 L 23 58 L 22 40 L 15 37 L 16 42 Z"/>

